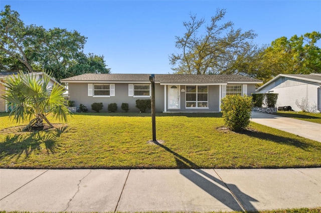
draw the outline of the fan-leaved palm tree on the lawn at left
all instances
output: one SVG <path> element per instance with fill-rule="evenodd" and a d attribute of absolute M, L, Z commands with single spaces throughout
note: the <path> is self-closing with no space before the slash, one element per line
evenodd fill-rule
<path fill-rule="evenodd" d="M 23 130 L 43 128 L 43 120 L 54 127 L 47 118 L 50 113 L 54 118 L 67 122 L 71 112 L 65 104 L 64 88 L 57 83 L 49 86 L 50 78 L 51 74 L 44 72 L 43 78 L 37 80 L 34 73 L 20 71 L 5 79 L 7 90 L 3 97 L 12 107 L 9 117 L 13 116 L 17 122 L 30 121 Z"/>

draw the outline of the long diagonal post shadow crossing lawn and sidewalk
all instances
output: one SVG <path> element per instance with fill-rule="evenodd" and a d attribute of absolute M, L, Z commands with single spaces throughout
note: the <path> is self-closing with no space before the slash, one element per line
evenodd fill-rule
<path fill-rule="evenodd" d="M 218 201 L 234 211 L 243 211 L 244 209 L 242 206 L 245 206 L 245 210 L 256 211 L 251 201 L 258 200 L 243 193 L 235 184 L 225 183 L 222 179 L 209 174 L 203 169 L 200 169 L 200 166 L 198 166 L 188 158 L 173 151 L 169 147 L 157 141 L 154 141 L 154 143 L 174 155 L 177 167 L 180 168 L 180 173 L 183 176 L 192 181 L 202 190 L 206 191 L 212 197 L 216 198 Z M 242 204 L 240 202 L 242 202 Z"/>

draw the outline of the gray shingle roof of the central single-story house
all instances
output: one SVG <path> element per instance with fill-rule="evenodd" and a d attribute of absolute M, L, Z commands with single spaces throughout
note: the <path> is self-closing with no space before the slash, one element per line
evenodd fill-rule
<path fill-rule="evenodd" d="M 106 81 L 106 82 L 149 82 L 150 74 L 81 74 L 62 79 L 61 82 L 87 82 L 87 81 Z M 195 75 L 195 74 L 155 74 L 155 81 L 159 83 L 205 83 L 221 84 L 228 82 L 250 82 L 261 83 L 261 80 L 242 76 L 232 75 Z"/>

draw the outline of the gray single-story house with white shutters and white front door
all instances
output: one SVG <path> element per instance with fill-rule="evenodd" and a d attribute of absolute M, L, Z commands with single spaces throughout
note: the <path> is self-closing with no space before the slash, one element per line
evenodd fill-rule
<path fill-rule="evenodd" d="M 62 79 L 68 83 L 68 96 L 87 106 L 102 102 L 129 104 L 129 111 L 138 112 L 137 99 L 150 99 L 150 74 L 81 74 Z M 261 80 L 242 75 L 155 74 L 156 112 L 218 112 L 221 98 L 228 94 L 251 95 Z"/>

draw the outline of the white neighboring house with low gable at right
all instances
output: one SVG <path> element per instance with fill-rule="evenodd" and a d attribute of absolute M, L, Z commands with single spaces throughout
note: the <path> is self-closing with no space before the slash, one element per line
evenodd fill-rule
<path fill-rule="evenodd" d="M 308 110 L 320 112 L 321 73 L 279 74 L 257 88 L 256 93 L 278 93 L 276 107 L 291 106 L 294 111 L 301 111 L 298 104 L 305 102 Z"/>

